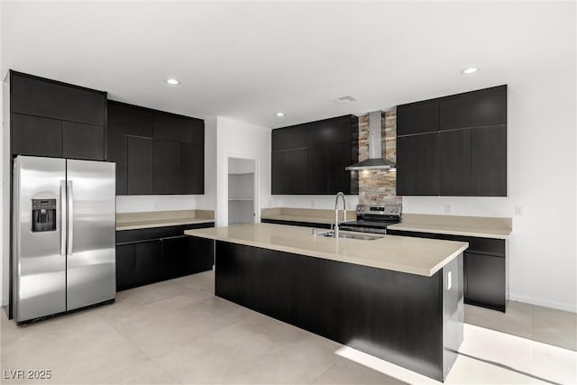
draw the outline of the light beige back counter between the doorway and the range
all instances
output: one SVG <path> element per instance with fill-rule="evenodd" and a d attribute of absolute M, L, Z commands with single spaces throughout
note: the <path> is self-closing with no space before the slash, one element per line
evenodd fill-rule
<path fill-rule="evenodd" d="M 342 221 L 343 213 L 339 214 Z M 347 221 L 356 220 L 357 215 L 354 210 L 346 211 Z M 307 222 L 310 224 L 334 224 L 334 210 L 324 208 L 290 208 L 271 207 L 261 209 L 261 219 L 272 219 L 277 221 Z"/>

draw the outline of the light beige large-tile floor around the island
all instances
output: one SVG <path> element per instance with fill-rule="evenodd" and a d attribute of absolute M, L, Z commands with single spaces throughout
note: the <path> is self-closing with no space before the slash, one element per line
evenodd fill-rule
<path fill-rule="evenodd" d="M 575 314 L 511 302 L 505 315 L 465 307 L 465 321 L 445 383 L 577 383 Z M 212 272 L 32 325 L 2 314 L 0 324 L 2 383 L 438 383 L 216 298 Z M 11 379 L 31 369 L 51 379 Z"/>

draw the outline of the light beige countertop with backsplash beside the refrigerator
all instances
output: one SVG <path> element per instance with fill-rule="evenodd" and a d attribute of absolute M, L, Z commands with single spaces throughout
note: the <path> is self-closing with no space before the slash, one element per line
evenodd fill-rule
<path fill-rule="evenodd" d="M 117 213 L 116 231 L 151 227 L 209 224 L 215 222 L 212 210 L 147 211 L 142 213 Z"/>

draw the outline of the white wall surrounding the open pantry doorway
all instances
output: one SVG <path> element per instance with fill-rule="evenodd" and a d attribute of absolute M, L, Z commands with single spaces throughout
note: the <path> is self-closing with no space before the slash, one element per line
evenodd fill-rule
<path fill-rule="evenodd" d="M 216 117 L 216 226 L 228 224 L 229 157 L 256 160 L 257 207 L 269 206 L 270 129 Z M 256 215 L 256 222 L 260 222 L 260 209 Z"/>

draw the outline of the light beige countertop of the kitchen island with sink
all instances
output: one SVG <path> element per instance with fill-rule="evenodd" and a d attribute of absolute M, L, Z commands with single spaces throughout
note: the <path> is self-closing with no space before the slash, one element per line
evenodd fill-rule
<path fill-rule="evenodd" d="M 312 235 L 308 227 L 272 224 L 186 230 L 184 234 L 426 277 L 434 275 L 469 246 L 463 242 L 396 235 L 380 236 L 373 241 L 334 239 Z"/>

